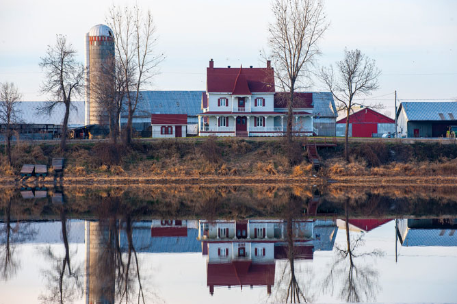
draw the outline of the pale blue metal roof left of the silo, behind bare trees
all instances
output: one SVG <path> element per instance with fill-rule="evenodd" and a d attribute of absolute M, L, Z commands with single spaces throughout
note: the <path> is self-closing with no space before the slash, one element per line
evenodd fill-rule
<path fill-rule="evenodd" d="M 19 110 L 18 118 L 20 123 L 36 123 L 36 124 L 53 124 L 60 125 L 64 121 L 65 105 L 59 103 L 54 107 L 50 116 L 39 113 L 39 107 L 44 106 L 47 101 L 21 101 L 18 103 Z M 70 116 L 68 117 L 68 125 L 84 125 L 84 101 L 72 101 L 73 108 L 70 108 Z"/>

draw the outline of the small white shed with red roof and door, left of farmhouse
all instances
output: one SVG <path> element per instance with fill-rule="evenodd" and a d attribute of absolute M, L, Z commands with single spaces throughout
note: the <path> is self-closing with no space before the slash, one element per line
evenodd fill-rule
<path fill-rule="evenodd" d="M 153 138 L 186 137 L 186 114 L 151 114 Z"/>

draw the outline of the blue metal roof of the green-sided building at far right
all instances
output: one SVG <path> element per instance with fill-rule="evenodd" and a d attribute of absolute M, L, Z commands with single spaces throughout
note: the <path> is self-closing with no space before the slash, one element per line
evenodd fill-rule
<path fill-rule="evenodd" d="M 397 116 L 404 110 L 408 121 L 457 121 L 457 102 L 402 102 Z"/>

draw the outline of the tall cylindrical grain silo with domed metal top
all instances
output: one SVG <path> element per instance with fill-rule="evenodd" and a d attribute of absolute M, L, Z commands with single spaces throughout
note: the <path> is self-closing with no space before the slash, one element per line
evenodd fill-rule
<path fill-rule="evenodd" d="M 113 31 L 95 25 L 86 34 L 86 125 L 107 125 L 107 107 L 102 104 L 114 93 L 114 71 Z"/>

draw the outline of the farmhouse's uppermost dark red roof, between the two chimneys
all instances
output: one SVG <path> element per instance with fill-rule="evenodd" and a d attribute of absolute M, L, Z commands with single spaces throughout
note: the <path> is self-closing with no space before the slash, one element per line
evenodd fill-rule
<path fill-rule="evenodd" d="M 274 93 L 273 68 L 242 67 L 207 68 L 207 92 L 233 93 L 238 90 L 237 79 L 239 79 L 241 94 L 246 94 L 246 92 L 249 92 L 249 94 L 250 92 Z M 246 90 L 246 85 L 248 91 Z"/>

